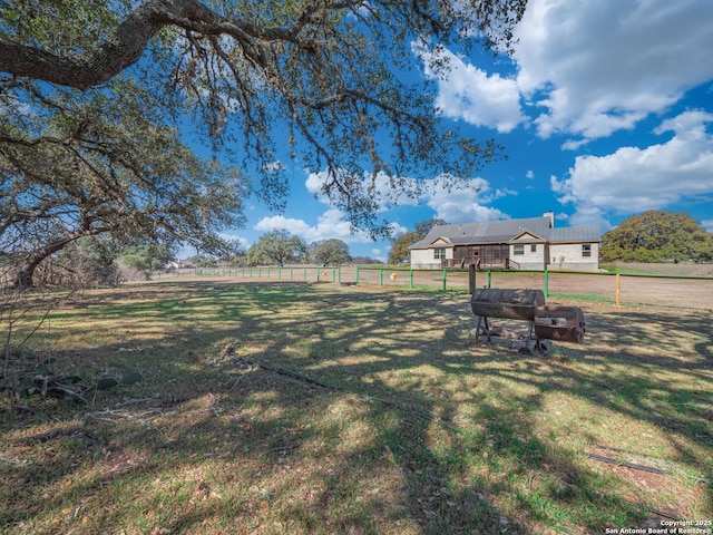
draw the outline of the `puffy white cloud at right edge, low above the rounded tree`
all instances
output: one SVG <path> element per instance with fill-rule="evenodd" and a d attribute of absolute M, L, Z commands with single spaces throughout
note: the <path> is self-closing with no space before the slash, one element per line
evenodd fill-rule
<path fill-rule="evenodd" d="M 705 129 L 710 123 L 713 114 L 686 111 L 656 128 L 658 135 L 673 132 L 667 142 L 621 147 L 606 156 L 578 156 L 567 178 L 551 178 L 551 188 L 561 203 L 576 205 L 579 218 L 600 216 L 602 211 L 658 210 L 683 198 L 711 195 L 713 135 Z"/>

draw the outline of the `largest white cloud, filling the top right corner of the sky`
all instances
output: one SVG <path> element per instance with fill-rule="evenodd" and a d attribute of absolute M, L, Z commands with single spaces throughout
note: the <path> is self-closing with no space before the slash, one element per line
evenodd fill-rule
<path fill-rule="evenodd" d="M 530 0 L 514 59 L 520 90 L 546 108 L 538 134 L 592 139 L 664 111 L 713 77 L 712 19 L 700 0 Z"/>

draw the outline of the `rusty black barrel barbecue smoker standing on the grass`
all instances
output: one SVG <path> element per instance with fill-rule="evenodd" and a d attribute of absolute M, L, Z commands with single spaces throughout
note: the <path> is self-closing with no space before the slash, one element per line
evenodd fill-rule
<path fill-rule="evenodd" d="M 509 335 L 509 331 L 490 324 L 490 319 L 527 321 L 525 347 L 522 354 L 533 351 L 544 352 L 547 346 L 543 340 L 583 343 L 586 324 L 584 313 L 578 307 L 548 307 L 541 290 L 501 290 L 476 288 L 475 266 L 470 266 L 470 308 L 478 318 L 476 325 L 476 343 L 480 335 Z"/>

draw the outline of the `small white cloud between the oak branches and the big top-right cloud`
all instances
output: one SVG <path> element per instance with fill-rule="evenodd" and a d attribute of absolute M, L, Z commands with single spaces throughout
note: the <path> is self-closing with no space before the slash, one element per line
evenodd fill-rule
<path fill-rule="evenodd" d="M 413 52 L 426 64 L 424 72 L 438 82 L 436 107 L 451 119 L 508 133 L 525 120 L 515 80 L 488 75 L 443 48 L 414 43 Z M 447 69 L 437 66 L 447 65 Z"/>

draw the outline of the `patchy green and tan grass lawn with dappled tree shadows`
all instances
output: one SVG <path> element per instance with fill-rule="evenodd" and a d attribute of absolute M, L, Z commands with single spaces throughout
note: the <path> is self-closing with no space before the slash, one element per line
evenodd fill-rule
<path fill-rule="evenodd" d="M 16 415 L 3 400 L 0 532 L 576 534 L 652 510 L 713 518 L 710 317 L 584 311 L 584 346 L 524 357 L 473 344 L 466 294 L 90 293 L 52 312 L 25 358 L 143 379 Z"/>

